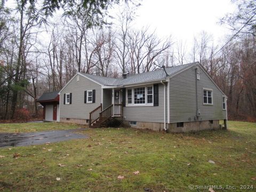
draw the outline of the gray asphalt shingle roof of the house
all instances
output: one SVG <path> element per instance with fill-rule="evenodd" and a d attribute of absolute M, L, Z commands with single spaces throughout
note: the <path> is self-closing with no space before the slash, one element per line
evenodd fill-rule
<path fill-rule="evenodd" d="M 198 62 L 188 63 L 186 65 L 174 66 L 174 67 L 166 67 L 165 70 L 169 76 L 178 73 L 180 70 L 188 68 L 192 65 L 195 65 Z M 84 76 L 91 78 L 93 81 L 98 82 L 102 85 L 108 86 L 122 86 L 122 85 L 129 85 L 129 84 L 138 84 L 138 83 L 145 83 L 145 82 L 153 82 L 160 79 L 164 79 L 166 74 L 164 69 L 157 69 L 154 71 L 149 71 L 146 73 L 136 74 L 136 75 L 129 75 L 127 78 L 111 78 L 111 77 L 101 77 L 98 75 L 89 75 L 82 73 Z"/>

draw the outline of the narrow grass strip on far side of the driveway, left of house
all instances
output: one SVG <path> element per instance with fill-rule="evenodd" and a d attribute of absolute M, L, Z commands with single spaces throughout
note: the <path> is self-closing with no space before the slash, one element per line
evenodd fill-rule
<path fill-rule="evenodd" d="M 77 124 L 67 123 L 3 123 L 0 124 L 0 133 L 18 133 L 18 132 L 39 132 L 53 130 L 67 130 L 81 127 Z"/>

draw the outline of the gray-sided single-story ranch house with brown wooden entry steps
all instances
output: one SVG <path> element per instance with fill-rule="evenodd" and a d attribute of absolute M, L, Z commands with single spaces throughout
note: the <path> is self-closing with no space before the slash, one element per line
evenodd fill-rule
<path fill-rule="evenodd" d="M 227 129 L 227 97 L 199 62 L 122 78 L 77 73 L 59 92 L 60 122 L 103 126 L 110 118 L 141 129 Z"/>

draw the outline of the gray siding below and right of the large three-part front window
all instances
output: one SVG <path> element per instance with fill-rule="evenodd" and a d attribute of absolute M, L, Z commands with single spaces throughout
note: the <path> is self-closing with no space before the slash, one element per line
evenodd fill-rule
<path fill-rule="evenodd" d="M 167 90 L 167 86 L 166 86 Z M 140 121 L 140 122 L 164 122 L 164 85 L 159 84 L 159 105 L 158 106 L 136 106 L 124 107 L 124 117 L 126 121 Z M 167 92 L 166 92 L 167 95 Z M 167 100 L 166 100 L 167 105 Z M 167 110 L 167 107 L 166 107 Z M 167 111 L 166 111 L 167 115 Z M 167 122 L 167 117 L 166 117 Z"/>

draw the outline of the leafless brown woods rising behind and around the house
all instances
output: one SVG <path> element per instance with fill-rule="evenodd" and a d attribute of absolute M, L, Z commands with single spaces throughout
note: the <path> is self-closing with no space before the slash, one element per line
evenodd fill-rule
<path fill-rule="evenodd" d="M 255 1 L 235 1 L 236 12 L 220 19 L 230 27 L 223 44 L 202 31 L 191 50 L 147 26 L 133 28 L 140 1 L 14 3 L 0 5 L 0 119 L 38 117 L 37 98 L 60 90 L 77 71 L 120 77 L 155 70 L 164 59 L 166 67 L 199 61 L 227 94 L 229 119 L 255 122 Z M 109 7 L 117 4 L 110 23 Z"/>

